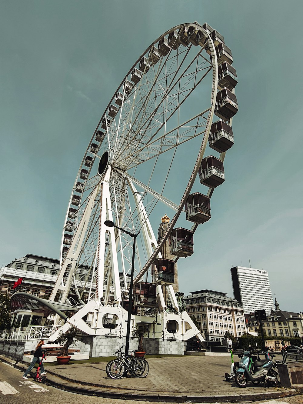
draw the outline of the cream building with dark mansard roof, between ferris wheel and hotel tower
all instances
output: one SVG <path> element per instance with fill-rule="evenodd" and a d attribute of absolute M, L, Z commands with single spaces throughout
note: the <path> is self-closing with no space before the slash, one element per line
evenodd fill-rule
<path fill-rule="evenodd" d="M 235 337 L 246 331 L 243 307 L 227 293 L 205 289 L 191 292 L 184 299 L 187 313 L 196 318 L 206 340 L 224 341 L 227 331 Z"/>

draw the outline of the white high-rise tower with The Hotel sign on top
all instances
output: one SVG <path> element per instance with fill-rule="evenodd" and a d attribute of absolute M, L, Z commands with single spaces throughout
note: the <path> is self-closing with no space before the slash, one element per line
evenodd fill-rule
<path fill-rule="evenodd" d="M 269 315 L 275 306 L 267 271 L 246 267 L 234 267 L 230 271 L 234 297 L 242 304 L 244 312 L 265 309 Z"/>

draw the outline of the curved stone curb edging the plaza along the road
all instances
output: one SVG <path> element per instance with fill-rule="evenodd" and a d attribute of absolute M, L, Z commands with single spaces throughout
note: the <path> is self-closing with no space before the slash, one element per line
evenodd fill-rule
<path fill-rule="evenodd" d="M 23 366 L 20 364 L 13 363 L 14 361 L 11 358 L 0 357 L 2 362 L 6 362 L 7 364 L 13 366 L 19 370 L 25 370 Z M 19 361 L 18 361 L 19 362 Z M 85 383 L 79 381 L 77 384 L 74 380 L 69 379 L 67 377 L 59 376 L 51 371 L 48 371 L 49 375 L 55 377 L 55 379 L 59 379 L 58 381 L 47 379 L 46 385 L 50 385 L 60 390 L 69 391 L 71 393 L 82 394 L 85 396 L 95 396 L 95 397 L 103 397 L 103 398 L 118 398 L 122 400 L 141 400 L 141 401 L 161 401 L 161 402 L 207 402 L 207 403 L 217 403 L 217 402 L 247 402 L 247 401 L 256 401 L 256 400 L 269 400 L 275 398 L 284 398 L 289 396 L 296 396 L 301 393 L 301 391 L 297 391 L 296 389 L 288 389 L 286 391 L 271 391 L 268 393 L 250 393 L 250 394 L 230 394 L 230 395 L 208 395 L 208 396 L 199 396 L 199 395 L 190 395 L 190 394 L 173 394 L 173 393 L 150 393 L 148 391 L 144 391 L 144 393 L 136 391 L 117 391 L 121 390 L 120 387 L 111 387 L 104 385 L 96 385 L 93 383 Z M 30 372 L 31 375 L 34 375 L 34 372 Z M 65 380 L 68 384 L 60 383 L 61 380 Z M 81 386 L 86 386 L 81 387 Z M 101 387 L 98 387 L 101 386 Z M 97 387 L 97 389 L 96 389 Z"/>

